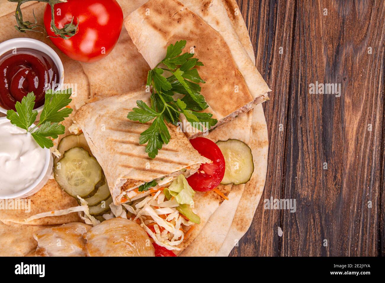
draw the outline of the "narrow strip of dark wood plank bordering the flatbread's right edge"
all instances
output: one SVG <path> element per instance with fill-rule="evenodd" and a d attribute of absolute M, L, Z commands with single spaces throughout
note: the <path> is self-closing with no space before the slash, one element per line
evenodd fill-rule
<path fill-rule="evenodd" d="M 277 256 L 281 213 L 264 210 L 261 204 L 271 196 L 281 198 L 282 193 L 295 2 L 239 1 L 238 5 L 251 35 L 256 66 L 273 92 L 269 93 L 270 101 L 264 103 L 269 132 L 268 176 L 264 193 L 251 228 L 231 255 Z M 283 54 L 279 54 L 280 47 Z"/>

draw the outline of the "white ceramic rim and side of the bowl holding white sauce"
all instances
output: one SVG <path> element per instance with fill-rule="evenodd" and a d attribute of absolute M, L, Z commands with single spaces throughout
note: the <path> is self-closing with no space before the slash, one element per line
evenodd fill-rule
<path fill-rule="evenodd" d="M 7 117 L 0 117 L 0 121 L 8 120 Z M 32 124 L 32 127 L 35 125 Z M 48 148 L 44 148 L 45 151 L 45 164 L 40 176 L 37 176 L 35 182 L 29 187 L 22 189 L 13 194 L 0 194 L 0 199 L 13 199 L 13 198 L 27 198 L 28 196 L 32 196 L 37 193 L 43 186 L 48 182 L 49 178 L 52 175 L 53 163 L 54 159 L 52 157 L 52 153 Z"/>

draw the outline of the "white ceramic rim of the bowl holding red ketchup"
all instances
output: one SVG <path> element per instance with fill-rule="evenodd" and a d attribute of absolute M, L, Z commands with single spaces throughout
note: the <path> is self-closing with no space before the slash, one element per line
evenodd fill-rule
<path fill-rule="evenodd" d="M 63 84 L 64 82 L 63 63 L 62 63 L 62 60 L 60 60 L 59 56 L 56 54 L 54 49 L 52 49 L 47 44 L 39 40 L 20 37 L 16 39 L 8 39 L 0 43 L 0 56 L 6 53 L 7 51 L 13 50 L 15 48 L 35 49 L 47 54 L 54 61 L 57 69 L 59 70 L 59 81 L 58 81 L 59 85 Z M 43 107 L 44 105 L 36 109 L 37 112 L 39 112 L 39 115 L 40 115 L 40 112 L 43 110 Z M 2 107 L 0 107 L 0 112 L 7 114 L 7 110 Z"/>

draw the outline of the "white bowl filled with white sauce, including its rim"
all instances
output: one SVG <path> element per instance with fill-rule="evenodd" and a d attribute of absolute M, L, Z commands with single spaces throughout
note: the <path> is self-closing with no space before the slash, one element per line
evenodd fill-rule
<path fill-rule="evenodd" d="M 32 124 L 31 127 L 35 125 Z M 26 130 L 0 117 L 0 199 L 37 193 L 52 174 L 53 158 Z"/>

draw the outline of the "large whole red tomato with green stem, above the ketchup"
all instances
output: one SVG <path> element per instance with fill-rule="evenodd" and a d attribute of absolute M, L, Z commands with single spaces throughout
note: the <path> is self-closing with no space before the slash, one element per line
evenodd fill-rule
<path fill-rule="evenodd" d="M 60 10 L 59 10 L 60 9 Z M 94 62 L 107 56 L 119 39 L 123 12 L 116 0 L 68 0 L 54 6 L 55 25 L 63 28 L 74 17 L 78 32 L 69 39 L 51 30 L 51 6 L 44 12 L 44 25 L 52 42 L 74 60 Z"/>

